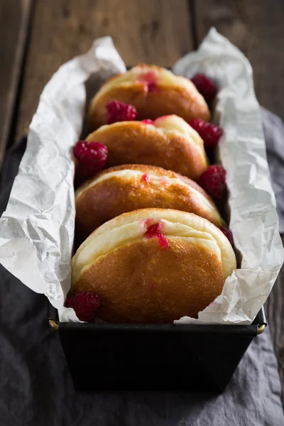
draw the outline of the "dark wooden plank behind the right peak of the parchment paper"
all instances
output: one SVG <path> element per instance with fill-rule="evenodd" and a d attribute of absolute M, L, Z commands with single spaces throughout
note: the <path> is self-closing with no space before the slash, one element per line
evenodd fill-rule
<path fill-rule="evenodd" d="M 197 41 L 211 26 L 249 58 L 256 96 L 284 119 L 283 0 L 202 0 L 194 2 Z"/>

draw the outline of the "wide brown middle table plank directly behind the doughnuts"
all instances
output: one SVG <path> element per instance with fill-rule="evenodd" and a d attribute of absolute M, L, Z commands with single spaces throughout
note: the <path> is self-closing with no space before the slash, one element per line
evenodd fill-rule
<path fill-rule="evenodd" d="M 115 18 L 114 18 L 115 17 Z M 111 35 L 126 65 L 171 65 L 192 48 L 186 0 L 37 1 L 17 135 L 26 132 L 44 85 L 58 67 Z"/>

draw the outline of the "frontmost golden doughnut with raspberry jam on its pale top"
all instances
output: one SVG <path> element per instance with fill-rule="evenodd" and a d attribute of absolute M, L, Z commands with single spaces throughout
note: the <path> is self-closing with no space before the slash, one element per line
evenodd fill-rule
<path fill-rule="evenodd" d="M 170 323 L 197 317 L 235 268 L 231 244 L 207 219 L 141 209 L 111 219 L 84 241 L 72 259 L 70 293 L 97 293 L 106 322 Z"/>

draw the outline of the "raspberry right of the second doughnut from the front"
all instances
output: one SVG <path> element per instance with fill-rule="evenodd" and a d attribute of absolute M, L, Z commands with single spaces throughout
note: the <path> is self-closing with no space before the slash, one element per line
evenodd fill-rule
<path fill-rule="evenodd" d="M 209 165 L 200 176 L 200 186 L 216 200 L 226 195 L 226 170 L 222 165 Z"/>

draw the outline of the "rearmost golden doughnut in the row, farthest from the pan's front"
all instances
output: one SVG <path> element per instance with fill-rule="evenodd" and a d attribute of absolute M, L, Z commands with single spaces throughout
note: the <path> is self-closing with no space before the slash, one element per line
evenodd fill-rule
<path fill-rule="evenodd" d="M 106 104 L 114 99 L 134 105 L 138 120 L 155 120 L 169 114 L 177 114 L 185 121 L 210 119 L 207 103 L 195 85 L 156 65 L 138 64 L 124 74 L 111 77 L 89 106 L 92 129 L 107 123 Z"/>

